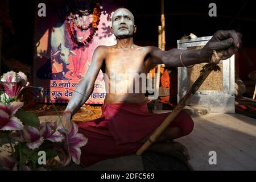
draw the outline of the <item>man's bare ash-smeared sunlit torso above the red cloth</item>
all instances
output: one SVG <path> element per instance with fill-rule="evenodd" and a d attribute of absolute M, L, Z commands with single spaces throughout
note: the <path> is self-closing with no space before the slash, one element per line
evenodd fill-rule
<path fill-rule="evenodd" d="M 150 69 L 147 59 L 150 47 L 133 45 L 131 48 L 119 49 L 110 46 L 106 50 L 104 102 L 144 102 L 143 84 L 146 84 L 146 74 Z"/>

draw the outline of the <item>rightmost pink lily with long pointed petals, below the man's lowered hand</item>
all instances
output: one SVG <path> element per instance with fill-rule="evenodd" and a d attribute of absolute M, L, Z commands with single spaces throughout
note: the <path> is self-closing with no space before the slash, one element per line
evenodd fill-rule
<path fill-rule="evenodd" d="M 59 129 L 59 132 L 64 135 L 64 152 L 63 152 L 63 165 L 67 166 L 71 162 L 71 158 L 73 162 L 76 164 L 80 164 L 81 157 L 81 147 L 85 146 L 88 142 L 88 138 L 84 137 L 84 135 L 77 133 L 78 127 L 75 123 L 72 122 L 71 130 L 66 135 L 64 129 Z"/>

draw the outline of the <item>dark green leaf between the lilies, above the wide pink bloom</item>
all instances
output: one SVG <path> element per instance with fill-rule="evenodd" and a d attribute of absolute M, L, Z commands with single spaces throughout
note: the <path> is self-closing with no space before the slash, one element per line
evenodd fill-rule
<path fill-rule="evenodd" d="M 24 125 L 38 127 L 40 124 L 39 118 L 35 113 L 24 111 L 22 109 L 19 109 L 16 112 L 15 117 L 19 118 Z"/>

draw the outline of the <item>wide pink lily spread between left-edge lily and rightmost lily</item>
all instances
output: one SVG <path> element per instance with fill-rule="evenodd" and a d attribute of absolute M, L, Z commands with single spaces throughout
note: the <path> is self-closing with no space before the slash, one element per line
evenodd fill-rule
<path fill-rule="evenodd" d="M 34 150 L 40 147 L 44 140 L 60 142 L 63 137 L 56 134 L 57 124 L 53 122 L 40 123 L 39 129 L 31 126 L 24 126 L 24 129 L 14 139 L 19 142 L 26 142 L 27 147 Z"/>

